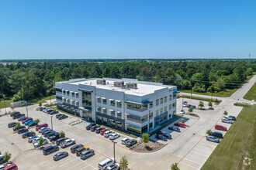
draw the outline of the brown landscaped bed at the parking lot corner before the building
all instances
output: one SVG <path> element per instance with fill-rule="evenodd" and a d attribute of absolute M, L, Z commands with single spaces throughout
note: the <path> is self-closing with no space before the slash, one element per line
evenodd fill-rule
<path fill-rule="evenodd" d="M 148 143 L 144 143 L 140 140 L 138 141 L 137 145 L 134 145 L 130 149 L 133 151 L 150 152 L 150 151 L 157 151 L 163 146 L 164 144 L 161 144 L 158 142 L 148 141 Z"/>

